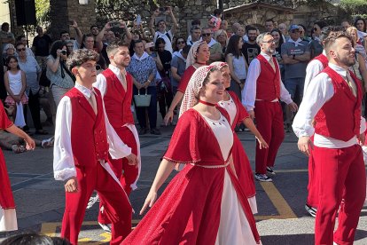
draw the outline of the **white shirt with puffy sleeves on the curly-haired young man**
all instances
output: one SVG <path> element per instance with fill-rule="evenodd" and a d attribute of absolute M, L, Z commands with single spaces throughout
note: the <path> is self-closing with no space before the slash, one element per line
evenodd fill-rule
<path fill-rule="evenodd" d="M 87 100 L 90 99 L 90 89 L 75 83 L 75 88 L 81 91 Z M 103 100 L 102 100 L 103 103 Z M 105 105 L 103 104 L 104 115 Z M 74 154 L 71 144 L 71 126 L 72 126 L 72 105 L 70 98 L 64 96 L 59 103 L 58 112 L 55 123 L 55 146 L 53 147 L 53 171 L 56 180 L 65 181 L 68 178 L 76 177 L 74 164 Z M 125 145 L 116 132 L 111 133 L 113 127 L 108 122 L 105 115 L 105 130 L 107 132 L 107 141 L 109 145 L 109 153 L 113 159 L 123 158 L 131 154 L 131 148 Z M 114 131 L 114 130 L 113 130 Z M 103 160 L 102 160 L 103 161 Z"/>

